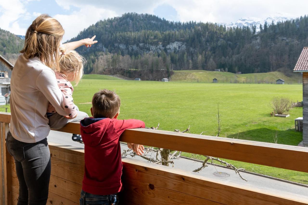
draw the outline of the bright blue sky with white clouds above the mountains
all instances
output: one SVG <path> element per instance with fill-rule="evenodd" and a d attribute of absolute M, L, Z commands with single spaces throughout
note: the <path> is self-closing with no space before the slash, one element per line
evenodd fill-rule
<path fill-rule="evenodd" d="M 99 20 L 127 12 L 154 14 L 171 21 L 235 22 L 239 18 L 266 18 L 276 13 L 292 18 L 308 14 L 307 0 L 1 0 L 0 28 L 25 35 L 40 14 L 49 14 L 63 26 L 63 41 Z"/>

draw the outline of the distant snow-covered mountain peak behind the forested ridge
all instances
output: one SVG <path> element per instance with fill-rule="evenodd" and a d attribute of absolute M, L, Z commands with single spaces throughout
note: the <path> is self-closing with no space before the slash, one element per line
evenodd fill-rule
<path fill-rule="evenodd" d="M 270 15 L 266 18 L 254 18 L 254 17 L 248 17 L 248 18 L 240 18 L 236 22 L 229 22 L 229 23 L 220 23 L 223 26 L 226 27 L 243 27 L 243 26 L 256 26 L 256 31 L 260 31 L 260 24 L 263 26 L 265 22 L 267 25 L 277 24 L 278 22 L 285 22 L 290 21 L 291 19 L 295 19 L 296 17 L 287 14 L 287 13 L 275 13 L 273 15 Z"/>

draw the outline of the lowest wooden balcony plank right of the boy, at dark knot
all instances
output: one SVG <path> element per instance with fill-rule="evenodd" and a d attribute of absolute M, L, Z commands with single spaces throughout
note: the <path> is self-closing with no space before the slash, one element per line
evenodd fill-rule
<path fill-rule="evenodd" d="M 124 187 L 124 199 L 129 199 L 132 203 L 140 203 L 142 205 L 152 204 L 170 204 L 170 205 L 186 205 L 186 204 L 221 204 L 210 200 L 206 200 L 197 196 L 180 193 L 171 189 L 158 186 L 149 186 L 144 181 L 123 179 L 128 186 Z M 124 204 L 125 201 L 123 201 Z"/>

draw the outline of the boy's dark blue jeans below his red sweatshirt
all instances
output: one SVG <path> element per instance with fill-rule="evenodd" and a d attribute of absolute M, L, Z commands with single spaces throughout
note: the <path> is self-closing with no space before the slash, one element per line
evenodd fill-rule
<path fill-rule="evenodd" d="M 118 194 L 94 195 L 81 191 L 80 205 L 116 205 L 119 203 Z"/>

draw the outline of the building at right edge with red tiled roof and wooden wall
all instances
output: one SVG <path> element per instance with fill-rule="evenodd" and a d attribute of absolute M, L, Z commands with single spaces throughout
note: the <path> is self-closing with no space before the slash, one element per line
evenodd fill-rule
<path fill-rule="evenodd" d="M 303 73 L 303 145 L 308 147 L 308 47 L 304 47 L 294 67 Z"/>

